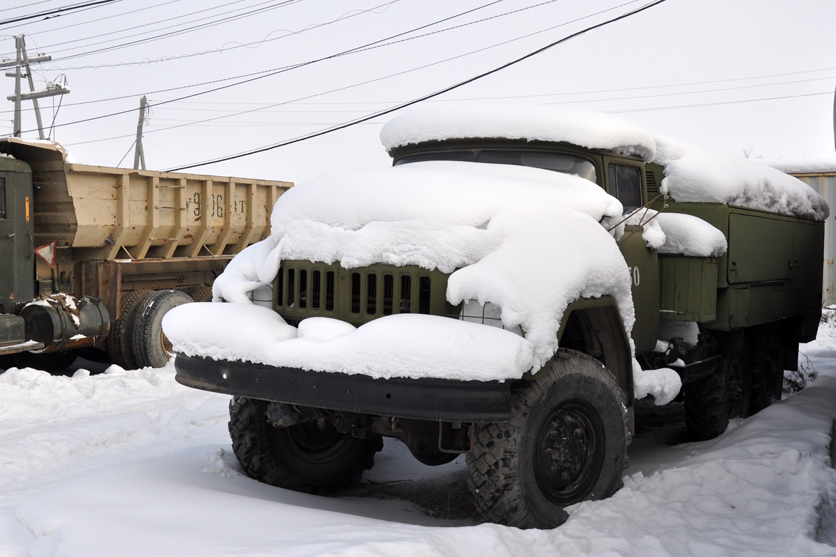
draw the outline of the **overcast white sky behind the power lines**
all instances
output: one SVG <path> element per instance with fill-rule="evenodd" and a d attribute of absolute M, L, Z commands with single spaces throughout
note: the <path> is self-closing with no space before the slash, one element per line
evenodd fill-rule
<path fill-rule="evenodd" d="M 21 0 L 8 8 L 5 0 L 0 21 L 85 2 Z M 63 99 L 41 101 L 45 122 L 54 118 L 57 125 L 52 138 L 80 162 L 115 166 L 127 154 L 121 165 L 130 167 L 142 94 L 164 103 L 237 84 L 245 79 L 239 76 L 383 45 L 154 106 L 145 160 L 152 170 L 166 170 L 395 106 L 646 2 L 120 0 L 0 23 L 0 57 L 13 56 L 13 35 L 21 33 L 30 56 L 51 54 L 53 61 L 33 72 L 36 86 L 66 76 L 72 89 Z M 571 103 L 737 153 L 828 156 L 834 23 L 833 0 L 666 0 L 427 103 Z M 393 41 L 400 42 L 387 44 Z M 3 97 L 13 94 L 13 81 L 0 76 Z M 8 134 L 13 104 L 3 100 L 0 109 L 0 133 Z M 74 123 L 121 111 L 129 112 Z M 378 134 L 391 118 L 188 171 L 298 182 L 389 165 Z M 34 128 L 28 110 L 23 135 L 37 137 Z"/>

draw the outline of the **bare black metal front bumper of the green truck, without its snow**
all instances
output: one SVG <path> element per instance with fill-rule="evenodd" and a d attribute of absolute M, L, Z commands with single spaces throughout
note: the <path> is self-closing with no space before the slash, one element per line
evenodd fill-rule
<path fill-rule="evenodd" d="M 511 382 L 374 379 L 177 355 L 176 380 L 204 391 L 347 412 L 440 422 L 502 422 Z"/>

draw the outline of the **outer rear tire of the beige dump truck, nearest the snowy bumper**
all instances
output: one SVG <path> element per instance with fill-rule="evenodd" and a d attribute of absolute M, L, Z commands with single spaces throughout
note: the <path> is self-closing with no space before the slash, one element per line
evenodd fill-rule
<path fill-rule="evenodd" d="M 191 296 L 179 290 L 155 291 L 136 304 L 130 316 L 131 354 L 136 367 L 164 367 L 171 359 L 171 342 L 162 331 L 162 318 Z"/>

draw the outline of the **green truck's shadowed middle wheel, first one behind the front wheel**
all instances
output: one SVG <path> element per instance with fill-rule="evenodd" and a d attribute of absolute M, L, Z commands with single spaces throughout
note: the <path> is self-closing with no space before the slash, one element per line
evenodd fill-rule
<path fill-rule="evenodd" d="M 685 423 L 697 440 L 716 438 L 730 418 L 746 418 L 752 407 L 752 369 L 744 351 L 724 354 L 707 377 L 686 383 Z"/>

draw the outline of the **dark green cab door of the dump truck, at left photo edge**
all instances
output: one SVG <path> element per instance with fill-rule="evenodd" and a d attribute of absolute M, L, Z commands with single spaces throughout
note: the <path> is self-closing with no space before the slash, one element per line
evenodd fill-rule
<path fill-rule="evenodd" d="M 34 296 L 31 203 L 28 165 L 0 158 L 0 304 L 31 301 Z"/>

